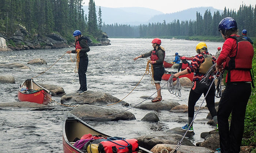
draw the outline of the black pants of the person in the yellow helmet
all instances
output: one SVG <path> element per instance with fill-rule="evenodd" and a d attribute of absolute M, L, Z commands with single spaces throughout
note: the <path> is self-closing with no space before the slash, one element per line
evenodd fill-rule
<path fill-rule="evenodd" d="M 201 97 L 202 94 L 206 95 L 209 86 L 206 86 L 204 83 L 200 83 L 200 81 L 195 81 L 192 89 L 190 90 L 189 97 L 188 97 L 188 117 L 194 117 L 195 113 L 195 105 L 198 99 Z M 211 116 L 217 116 L 217 111 L 215 109 L 215 85 L 211 86 L 207 96 L 206 96 L 206 103 L 208 110 L 211 113 Z"/>

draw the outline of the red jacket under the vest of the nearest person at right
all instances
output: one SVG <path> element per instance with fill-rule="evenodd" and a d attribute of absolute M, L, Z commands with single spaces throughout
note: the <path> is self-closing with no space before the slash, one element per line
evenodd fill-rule
<path fill-rule="evenodd" d="M 234 35 L 232 35 L 234 36 Z M 233 57 L 236 54 L 236 39 L 233 38 L 227 38 L 222 46 L 221 54 L 219 55 L 219 58 L 217 59 L 217 64 L 222 65 L 222 63 L 226 60 L 228 56 Z M 245 59 L 246 60 L 246 59 Z M 251 82 L 251 75 L 250 71 L 246 70 L 231 70 L 230 71 L 230 82 Z M 227 82 L 227 76 L 226 76 L 226 82 Z"/>

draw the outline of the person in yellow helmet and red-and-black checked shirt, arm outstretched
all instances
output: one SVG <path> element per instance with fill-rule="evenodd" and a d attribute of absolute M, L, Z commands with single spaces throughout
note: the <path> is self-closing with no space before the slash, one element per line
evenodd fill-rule
<path fill-rule="evenodd" d="M 189 97 L 188 97 L 188 124 L 182 126 L 182 130 L 188 130 L 189 132 L 193 132 L 193 118 L 195 114 L 195 105 L 196 102 L 199 100 L 202 94 L 206 95 L 208 89 L 210 88 L 210 84 L 206 85 L 205 83 L 200 83 L 206 72 L 210 69 L 210 67 L 216 63 L 216 58 L 209 54 L 207 50 L 206 43 L 201 42 L 198 43 L 196 46 L 196 55 L 193 59 L 189 67 L 185 70 L 174 74 L 174 78 L 178 78 L 180 75 L 194 73 L 193 77 L 193 87 L 190 90 Z M 210 60 L 205 59 L 204 56 L 210 58 Z M 214 77 L 212 75 L 209 76 L 209 81 L 212 82 Z M 208 110 L 213 117 L 213 120 L 216 124 L 216 128 L 218 128 L 218 120 L 217 120 L 217 111 L 215 109 L 215 86 L 211 86 L 207 96 L 206 96 L 206 103 Z M 189 125 L 192 123 L 191 127 Z"/>

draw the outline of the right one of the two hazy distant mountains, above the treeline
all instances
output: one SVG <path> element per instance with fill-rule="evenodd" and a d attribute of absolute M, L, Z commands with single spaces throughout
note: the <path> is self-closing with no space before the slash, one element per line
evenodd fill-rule
<path fill-rule="evenodd" d="M 189 8 L 185 9 L 183 11 L 175 12 L 175 13 L 167 13 L 167 14 L 161 14 L 161 15 L 155 15 L 150 20 L 148 20 L 148 23 L 162 23 L 163 20 L 166 21 L 166 23 L 170 23 L 174 21 L 174 19 L 185 21 L 185 20 L 196 20 L 196 12 L 200 13 L 204 17 L 204 12 L 208 9 L 208 11 L 211 11 L 212 16 L 214 15 L 214 12 L 219 11 L 220 13 L 223 12 L 223 10 L 215 9 L 213 7 L 196 7 L 196 8 Z"/>

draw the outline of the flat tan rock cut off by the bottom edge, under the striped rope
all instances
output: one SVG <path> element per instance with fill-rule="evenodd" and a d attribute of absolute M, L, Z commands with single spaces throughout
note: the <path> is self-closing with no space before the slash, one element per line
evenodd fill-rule
<path fill-rule="evenodd" d="M 171 144 L 158 144 L 155 145 L 150 151 L 153 153 L 173 153 L 176 149 L 177 145 Z M 164 149 L 164 150 L 163 150 Z M 167 150 L 165 150 L 167 149 Z M 213 153 L 214 150 L 204 148 L 204 147 L 197 147 L 197 146 L 186 146 L 182 145 L 178 149 L 177 153 Z"/>

